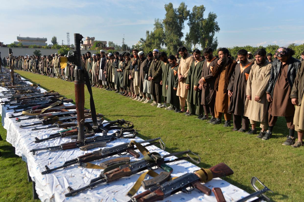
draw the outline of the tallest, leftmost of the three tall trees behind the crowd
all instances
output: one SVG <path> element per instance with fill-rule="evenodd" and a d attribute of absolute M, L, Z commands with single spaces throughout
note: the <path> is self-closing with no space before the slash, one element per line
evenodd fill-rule
<path fill-rule="evenodd" d="M 185 28 L 184 22 L 188 19 L 190 11 L 187 10 L 185 2 L 181 2 L 178 8 L 173 8 L 173 4 L 165 4 L 166 15 L 164 23 L 164 43 L 169 54 L 175 54 L 181 46 L 181 38 L 184 36 L 182 30 Z"/>

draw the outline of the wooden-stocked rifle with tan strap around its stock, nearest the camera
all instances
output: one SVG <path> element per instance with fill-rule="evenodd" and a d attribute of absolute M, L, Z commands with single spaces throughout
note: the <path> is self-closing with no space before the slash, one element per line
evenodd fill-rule
<path fill-rule="evenodd" d="M 164 198 L 167 198 L 179 191 L 189 194 L 194 190 L 194 188 L 210 195 L 211 190 L 205 186 L 202 187 L 200 182 L 207 182 L 215 177 L 224 177 L 232 174 L 233 170 L 224 163 L 217 164 L 209 169 L 201 168 L 201 170 L 195 171 L 194 173 L 183 174 L 180 177 L 165 182 L 164 184 L 161 184 L 161 186 L 150 187 L 147 191 L 132 197 L 129 202 L 153 202 L 164 200 Z M 155 180 L 157 181 L 157 177 Z M 191 189 L 187 190 L 188 187 Z"/>

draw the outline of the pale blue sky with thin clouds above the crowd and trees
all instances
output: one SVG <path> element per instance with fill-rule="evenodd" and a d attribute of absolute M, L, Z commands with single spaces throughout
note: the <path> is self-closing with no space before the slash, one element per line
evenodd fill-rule
<path fill-rule="evenodd" d="M 20 34 L 22 37 L 46 37 L 50 44 L 55 35 L 61 44 L 61 40 L 67 42 L 66 32 L 69 31 L 71 44 L 74 43 L 73 33 L 80 33 L 118 45 L 122 45 L 125 35 L 126 44 L 132 46 L 145 38 L 146 30 L 153 29 L 155 18 L 164 18 L 164 5 L 169 2 L 177 8 L 181 1 L 4 1 L 1 3 L 0 41 L 5 44 L 17 41 Z M 205 16 L 209 12 L 217 14 L 219 47 L 304 43 L 303 0 L 184 2 L 190 10 L 194 5 L 204 5 Z M 187 31 L 185 22 L 184 35 Z"/>

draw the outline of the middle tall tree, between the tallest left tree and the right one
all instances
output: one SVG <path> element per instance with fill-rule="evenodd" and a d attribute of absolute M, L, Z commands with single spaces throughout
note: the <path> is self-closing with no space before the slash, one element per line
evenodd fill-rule
<path fill-rule="evenodd" d="M 202 25 L 202 21 L 204 20 L 205 10 L 206 8 L 204 5 L 198 7 L 194 6 L 192 12 L 189 14 L 189 21 L 187 23 L 189 26 L 189 33 L 186 34 L 185 40 L 188 44 L 191 44 L 190 48 L 192 48 L 193 45 L 195 49 L 196 45 L 199 43 L 200 30 L 202 30 L 199 26 Z"/>

